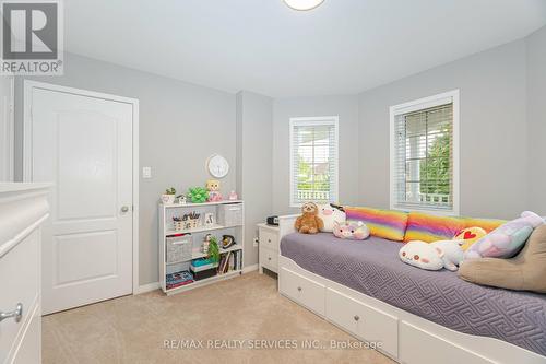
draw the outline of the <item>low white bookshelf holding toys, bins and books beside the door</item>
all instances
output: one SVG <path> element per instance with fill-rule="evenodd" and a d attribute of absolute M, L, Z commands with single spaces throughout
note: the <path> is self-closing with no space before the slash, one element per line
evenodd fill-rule
<path fill-rule="evenodd" d="M 232 215 L 229 215 L 232 211 Z M 235 212 L 233 212 L 235 211 Z M 173 218 L 181 218 L 185 214 L 199 214 L 199 226 L 186 230 L 175 230 Z M 214 215 L 214 222 L 210 225 L 204 224 L 205 215 Z M 234 214 L 235 213 L 235 214 Z M 165 294 L 171 295 L 176 293 L 181 293 L 194 287 L 203 286 L 213 282 L 222 281 L 225 279 L 234 278 L 242 273 L 242 267 L 245 261 L 245 221 L 244 221 L 244 201 L 241 200 L 226 200 L 219 202 L 205 202 L 205 203 L 187 203 L 187 204 L 164 204 L 158 206 L 158 223 L 159 223 L 159 282 L 162 290 Z M 234 219 L 235 216 L 235 219 Z M 185 220 L 186 221 L 186 220 Z M 205 278 L 201 275 L 201 279 L 197 279 L 199 274 L 193 274 L 194 281 L 187 283 L 181 286 L 167 290 L 167 275 L 173 275 L 173 273 L 179 273 L 183 271 L 189 271 L 192 260 L 205 258 L 201 249 L 202 243 L 206 235 L 213 235 L 217 238 L 218 244 L 221 244 L 223 235 L 230 235 L 235 238 L 236 244 L 227 249 L 219 248 L 221 257 L 228 255 L 226 258 L 227 272 L 216 273 L 215 275 Z M 191 258 L 188 250 L 185 250 L 183 255 L 180 256 L 180 260 L 167 262 L 167 254 L 171 251 L 167 249 L 167 238 L 170 242 L 169 248 L 173 249 L 173 238 L 179 242 L 180 238 L 187 237 L 191 245 Z M 176 243 L 178 244 L 178 243 Z M 186 245 L 186 249 L 190 246 Z M 233 251 L 233 253 L 232 253 Z M 175 258 L 175 256 L 170 256 Z M 178 255 L 176 256 L 178 257 Z M 233 258 L 233 262 L 232 262 Z M 236 259 L 237 258 L 237 259 Z M 176 258 L 175 258 L 176 259 Z M 171 260 L 171 259 L 168 259 Z M 227 263 L 229 260 L 229 263 Z M 182 275 L 183 277 L 183 275 Z M 173 278 L 170 278 L 173 279 Z M 177 277 L 178 279 L 178 277 Z M 185 278 L 180 279 L 183 281 Z"/>

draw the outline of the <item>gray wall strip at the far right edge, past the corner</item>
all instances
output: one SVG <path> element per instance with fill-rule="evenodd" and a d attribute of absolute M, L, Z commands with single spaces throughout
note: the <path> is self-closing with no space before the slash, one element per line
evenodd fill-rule
<path fill-rule="evenodd" d="M 527 37 L 529 208 L 546 215 L 546 27 Z"/>

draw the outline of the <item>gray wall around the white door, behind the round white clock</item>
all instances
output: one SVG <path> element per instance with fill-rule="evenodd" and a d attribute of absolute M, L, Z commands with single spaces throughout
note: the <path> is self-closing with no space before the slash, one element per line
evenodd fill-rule
<path fill-rule="evenodd" d="M 164 189 L 204 185 L 212 153 L 224 155 L 232 167 L 223 192 L 236 188 L 235 95 L 74 55 L 66 56 L 63 77 L 37 80 L 140 99 L 140 164 L 153 173 L 140 180 L 140 283 L 157 282 L 157 202 Z M 19 166 L 22 92 L 17 80 Z"/>

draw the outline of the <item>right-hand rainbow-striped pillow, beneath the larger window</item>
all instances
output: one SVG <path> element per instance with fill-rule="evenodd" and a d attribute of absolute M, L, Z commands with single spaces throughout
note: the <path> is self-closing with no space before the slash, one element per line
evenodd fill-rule
<path fill-rule="evenodd" d="M 437 216 L 424 212 L 410 212 L 404 242 L 432 243 L 451 240 L 465 226 L 460 218 Z"/>

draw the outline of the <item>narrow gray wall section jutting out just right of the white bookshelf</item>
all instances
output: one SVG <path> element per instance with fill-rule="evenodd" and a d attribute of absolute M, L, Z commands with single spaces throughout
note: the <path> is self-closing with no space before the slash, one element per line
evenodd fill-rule
<path fill-rule="evenodd" d="M 257 224 L 272 211 L 273 101 L 251 92 L 237 94 L 237 187 L 245 199 L 245 265 L 258 263 Z"/>

